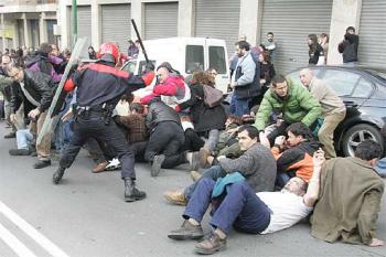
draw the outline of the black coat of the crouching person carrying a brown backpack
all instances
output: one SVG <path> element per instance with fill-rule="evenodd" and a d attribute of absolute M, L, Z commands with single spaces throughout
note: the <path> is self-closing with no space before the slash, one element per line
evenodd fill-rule
<path fill-rule="evenodd" d="M 222 105 L 207 107 L 204 104 L 204 89 L 200 84 L 192 84 L 191 99 L 180 104 L 181 109 L 191 107 L 194 130 L 197 132 L 206 132 L 211 129 L 224 129 L 226 121 L 226 113 Z"/>

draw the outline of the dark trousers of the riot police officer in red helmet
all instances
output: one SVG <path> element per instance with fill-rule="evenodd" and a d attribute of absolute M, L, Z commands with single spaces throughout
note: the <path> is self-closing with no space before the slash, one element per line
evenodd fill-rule
<path fill-rule="evenodd" d="M 98 142 L 107 142 L 108 146 L 111 147 L 122 164 L 122 179 L 136 179 L 135 156 L 131 152 L 124 133 L 112 120 L 109 125 L 105 125 L 104 120 L 100 118 L 78 118 L 76 120 L 74 125 L 74 135 L 69 140 L 69 144 L 63 152 L 60 165 L 63 168 L 69 168 L 82 146 L 89 138 L 94 138 Z"/>

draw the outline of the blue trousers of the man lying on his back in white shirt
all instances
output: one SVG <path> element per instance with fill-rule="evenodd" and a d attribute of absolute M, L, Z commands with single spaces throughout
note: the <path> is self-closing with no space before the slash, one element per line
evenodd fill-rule
<path fill-rule="evenodd" d="M 202 222 L 212 202 L 214 185 L 215 182 L 211 179 L 200 180 L 182 215 L 185 219 L 192 217 L 199 223 Z M 227 194 L 218 201 L 218 207 L 212 210 L 213 216 L 210 224 L 226 235 L 229 234 L 232 225 L 237 231 L 251 234 L 258 234 L 268 227 L 270 211 L 247 182 L 236 182 L 228 185 Z"/>

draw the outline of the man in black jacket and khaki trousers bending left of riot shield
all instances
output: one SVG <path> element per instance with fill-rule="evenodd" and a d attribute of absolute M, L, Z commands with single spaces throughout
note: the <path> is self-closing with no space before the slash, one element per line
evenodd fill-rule
<path fill-rule="evenodd" d="M 19 82 L 23 94 L 24 115 L 31 120 L 36 121 L 36 135 L 42 130 L 44 119 L 50 108 L 53 92 L 51 88 L 52 79 L 49 75 L 41 72 L 23 71 L 20 67 L 10 65 L 7 67 L 9 76 Z M 15 111 L 21 103 L 18 103 L 18 94 L 11 92 L 11 116 L 12 122 L 15 122 Z M 32 129 L 34 130 L 34 129 Z M 36 146 L 39 161 L 33 165 L 34 169 L 42 169 L 51 165 L 51 139 L 52 131 L 49 131 Z"/>

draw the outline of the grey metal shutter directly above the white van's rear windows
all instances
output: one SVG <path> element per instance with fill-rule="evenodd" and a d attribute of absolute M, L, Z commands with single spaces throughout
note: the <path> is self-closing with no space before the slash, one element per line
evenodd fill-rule
<path fill-rule="evenodd" d="M 228 53 L 238 40 L 239 0 L 196 0 L 194 35 L 225 40 Z"/>

